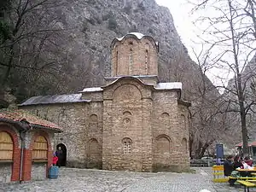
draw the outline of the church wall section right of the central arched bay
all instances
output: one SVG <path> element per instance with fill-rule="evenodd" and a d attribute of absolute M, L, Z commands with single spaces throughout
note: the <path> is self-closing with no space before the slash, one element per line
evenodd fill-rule
<path fill-rule="evenodd" d="M 176 91 L 154 92 L 153 156 L 154 170 L 181 172 L 189 168 L 188 148 L 183 149 L 183 138 L 188 138 L 180 122 Z M 185 140 L 185 144 L 187 145 Z"/>

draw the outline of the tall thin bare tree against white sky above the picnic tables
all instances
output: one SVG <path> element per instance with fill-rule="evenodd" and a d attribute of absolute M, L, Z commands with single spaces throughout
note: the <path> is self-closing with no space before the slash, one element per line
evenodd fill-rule
<path fill-rule="evenodd" d="M 216 75 L 218 81 L 223 83 L 218 88 L 224 90 L 224 113 L 239 113 L 243 152 L 247 155 L 247 114 L 255 105 L 255 100 L 249 89 L 253 73 L 245 73 L 245 69 L 255 55 L 254 1 L 206 0 L 197 4 L 195 10 L 206 10 L 209 5 L 215 10 L 215 15 L 201 16 L 200 20 L 208 23 L 203 30 L 207 38 L 201 39 L 211 50 L 207 62 L 212 63 L 218 72 L 225 71 L 222 75 Z M 224 78 L 227 74 L 233 76 L 229 84 Z"/>

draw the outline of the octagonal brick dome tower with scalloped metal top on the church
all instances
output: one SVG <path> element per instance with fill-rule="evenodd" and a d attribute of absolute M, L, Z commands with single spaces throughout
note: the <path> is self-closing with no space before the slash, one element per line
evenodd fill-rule
<path fill-rule="evenodd" d="M 157 76 L 158 48 L 154 38 L 140 32 L 114 38 L 111 44 L 112 76 Z"/>

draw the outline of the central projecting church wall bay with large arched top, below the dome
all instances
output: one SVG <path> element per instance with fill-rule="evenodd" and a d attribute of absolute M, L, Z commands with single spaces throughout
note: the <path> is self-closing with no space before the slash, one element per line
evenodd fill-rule
<path fill-rule="evenodd" d="M 103 168 L 151 170 L 151 90 L 126 79 L 104 90 Z M 125 140 L 131 148 L 125 153 Z"/>

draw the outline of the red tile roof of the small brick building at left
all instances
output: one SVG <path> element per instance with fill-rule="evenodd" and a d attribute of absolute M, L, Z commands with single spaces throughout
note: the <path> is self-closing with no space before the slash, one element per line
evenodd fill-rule
<path fill-rule="evenodd" d="M 21 121 L 26 119 L 26 121 L 32 125 L 40 125 L 40 126 L 43 126 L 44 128 L 61 131 L 61 127 L 59 125 L 55 125 L 54 123 L 49 122 L 48 120 L 40 119 L 38 116 L 28 113 L 21 109 L 0 110 L 0 120 L 1 119 L 7 119 L 11 121 Z"/>

